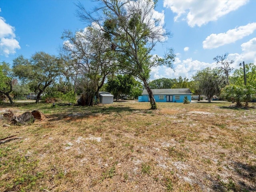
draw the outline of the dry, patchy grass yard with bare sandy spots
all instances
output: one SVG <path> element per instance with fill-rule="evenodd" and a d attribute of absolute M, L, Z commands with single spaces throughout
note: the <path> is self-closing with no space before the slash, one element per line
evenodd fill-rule
<path fill-rule="evenodd" d="M 47 119 L 3 127 L 1 192 L 256 191 L 256 109 L 222 103 L 18 103 Z M 10 123 L 9 123 L 10 124 Z"/>

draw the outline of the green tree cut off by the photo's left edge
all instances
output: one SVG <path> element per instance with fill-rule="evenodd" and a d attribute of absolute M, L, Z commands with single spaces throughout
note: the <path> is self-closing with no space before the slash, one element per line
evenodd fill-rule
<path fill-rule="evenodd" d="M 9 63 L 2 62 L 0 65 L 0 93 L 8 97 L 11 104 L 13 104 L 12 93 L 13 89 L 13 75 Z"/>

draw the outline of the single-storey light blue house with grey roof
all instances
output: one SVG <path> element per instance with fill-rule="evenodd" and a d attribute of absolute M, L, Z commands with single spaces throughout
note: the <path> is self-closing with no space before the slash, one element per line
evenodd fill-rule
<path fill-rule="evenodd" d="M 184 97 L 188 97 L 191 102 L 191 91 L 190 89 L 151 89 L 156 102 L 177 102 L 183 103 Z M 142 96 L 138 98 L 139 102 L 150 101 L 148 92 L 146 89 L 143 90 Z"/>

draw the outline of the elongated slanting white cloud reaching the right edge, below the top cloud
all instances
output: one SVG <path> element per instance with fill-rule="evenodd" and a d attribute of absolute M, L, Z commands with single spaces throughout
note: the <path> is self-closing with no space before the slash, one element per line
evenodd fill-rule
<path fill-rule="evenodd" d="M 218 48 L 220 46 L 234 43 L 237 40 L 252 34 L 256 30 L 256 23 L 249 23 L 246 26 L 228 30 L 226 33 L 211 34 L 203 41 L 204 49 Z"/>

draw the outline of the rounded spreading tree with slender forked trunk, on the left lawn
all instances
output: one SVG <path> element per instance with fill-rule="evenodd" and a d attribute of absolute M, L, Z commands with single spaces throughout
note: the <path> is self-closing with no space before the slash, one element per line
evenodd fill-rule
<path fill-rule="evenodd" d="M 30 59 L 22 55 L 13 60 L 13 71 L 23 81 L 30 84 L 30 89 L 37 94 L 39 103 L 41 94 L 62 74 L 62 59 L 45 52 L 37 52 Z"/>

